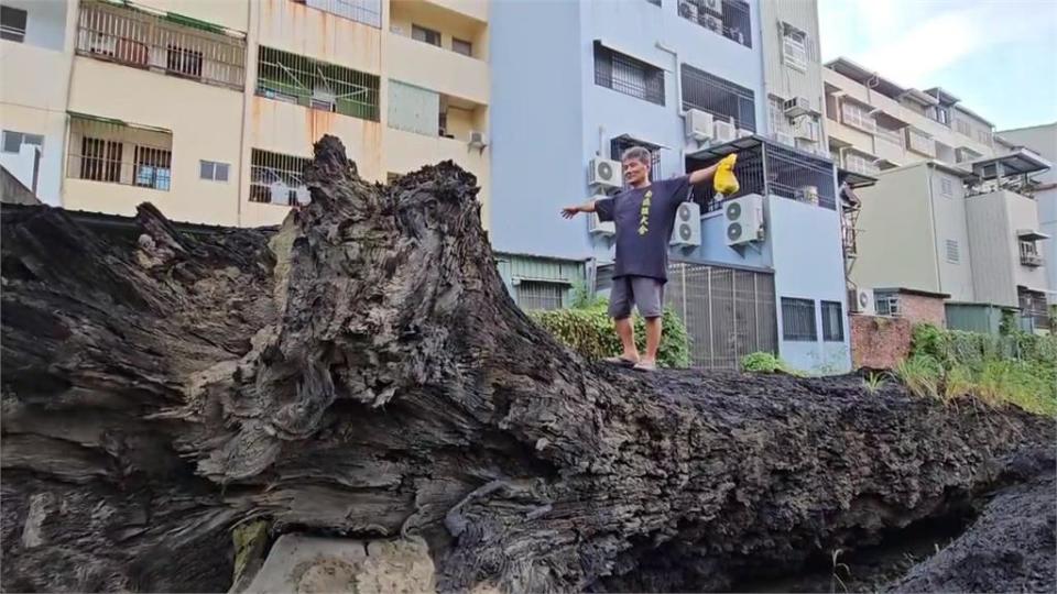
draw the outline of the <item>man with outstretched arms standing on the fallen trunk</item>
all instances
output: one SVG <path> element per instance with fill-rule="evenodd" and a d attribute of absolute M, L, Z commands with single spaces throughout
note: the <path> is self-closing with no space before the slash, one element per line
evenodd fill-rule
<path fill-rule="evenodd" d="M 664 284 L 668 276 L 668 239 L 679 204 L 685 201 L 691 185 L 712 178 L 720 166 L 732 167 L 735 155 L 720 163 L 663 182 L 650 182 L 650 151 L 633 146 L 621 155 L 628 188 L 611 197 L 562 209 L 571 219 L 578 212 L 598 212 L 601 221 L 617 227 L 617 258 L 613 264 L 613 288 L 609 295 L 609 316 L 624 352 L 606 361 L 639 371 L 657 369 L 661 345 L 661 317 L 664 308 Z M 646 319 L 646 353 L 639 356 L 635 346 L 631 308 Z"/>

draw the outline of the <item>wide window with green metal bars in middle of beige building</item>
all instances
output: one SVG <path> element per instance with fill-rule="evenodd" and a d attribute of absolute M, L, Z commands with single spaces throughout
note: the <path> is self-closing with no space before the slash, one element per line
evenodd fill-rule
<path fill-rule="evenodd" d="M 379 78 L 344 66 L 261 46 L 257 95 L 378 121 Z"/>

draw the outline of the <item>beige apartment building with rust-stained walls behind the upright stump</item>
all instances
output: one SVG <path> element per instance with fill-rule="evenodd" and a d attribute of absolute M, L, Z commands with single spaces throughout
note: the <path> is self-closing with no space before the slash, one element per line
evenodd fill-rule
<path fill-rule="evenodd" d="M 42 200 L 275 224 L 323 134 L 385 182 L 453 160 L 488 220 L 483 0 L 4 0 L 0 164 Z"/>

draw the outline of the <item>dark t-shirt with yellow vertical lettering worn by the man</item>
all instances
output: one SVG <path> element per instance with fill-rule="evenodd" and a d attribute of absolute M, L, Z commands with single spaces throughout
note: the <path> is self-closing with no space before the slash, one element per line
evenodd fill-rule
<path fill-rule="evenodd" d="M 668 240 L 679 204 L 689 193 L 689 177 L 654 182 L 595 201 L 602 221 L 617 223 L 613 277 L 649 276 L 668 279 Z"/>

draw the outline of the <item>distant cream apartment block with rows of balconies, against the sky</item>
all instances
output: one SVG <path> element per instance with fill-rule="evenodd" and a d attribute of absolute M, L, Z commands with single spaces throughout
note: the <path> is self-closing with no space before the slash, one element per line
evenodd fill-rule
<path fill-rule="evenodd" d="M 994 154 L 994 125 L 939 87 L 902 87 L 848 58 L 827 63 L 822 82 L 829 151 L 850 172 Z"/>

